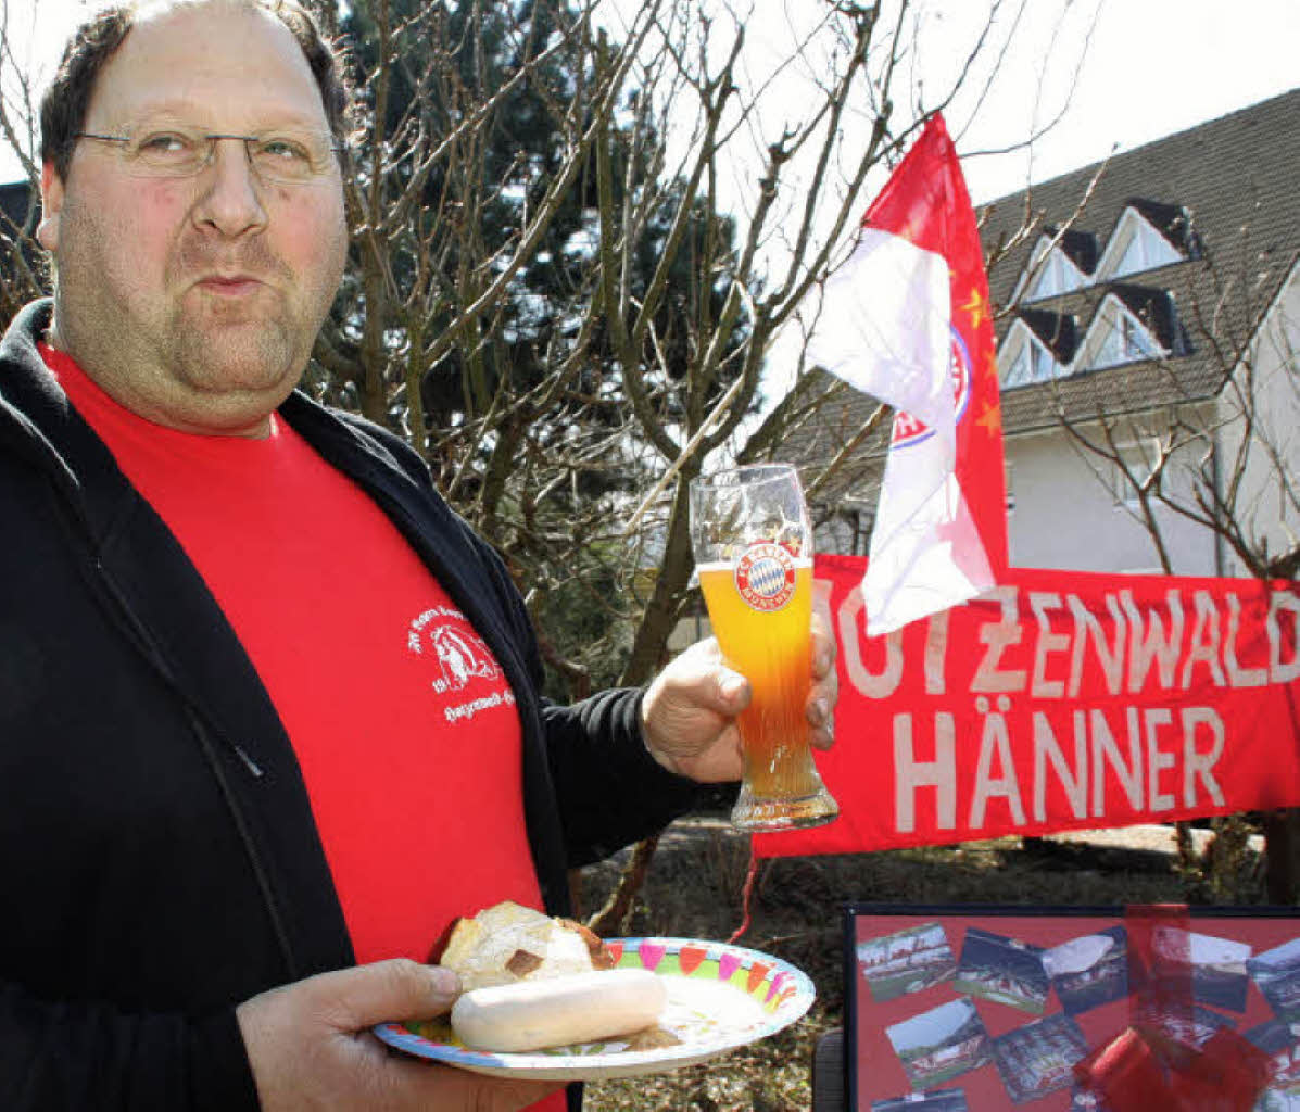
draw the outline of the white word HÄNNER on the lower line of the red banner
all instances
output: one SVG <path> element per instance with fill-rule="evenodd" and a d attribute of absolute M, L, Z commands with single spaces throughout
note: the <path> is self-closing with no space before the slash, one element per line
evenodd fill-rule
<path fill-rule="evenodd" d="M 1024 813 L 1022 775 L 1030 775 L 1030 800 L 1035 822 L 1048 821 L 1049 782 L 1065 793 L 1072 818 L 1106 821 L 1117 817 L 1106 806 L 1108 791 L 1118 788 L 1130 814 L 1152 815 L 1174 810 L 1179 804 L 1195 809 L 1221 808 L 1226 802 L 1216 778 L 1223 756 L 1226 730 L 1218 711 L 1210 706 L 1183 708 L 1175 718 L 1164 706 L 1123 710 L 1123 723 L 1112 723 L 1100 708 L 1070 713 L 1074 735 L 1072 753 L 1062 747 L 1065 730 L 1053 727 L 1049 715 L 1035 710 L 1030 715 L 1032 760 L 1017 761 L 1009 719 L 1011 700 L 998 696 L 996 705 L 980 696 L 975 709 L 983 715 L 980 745 L 975 756 L 967 828 L 979 831 L 988 822 L 991 802 L 1002 801 L 1009 825 L 1028 825 Z M 1113 711 L 1114 713 L 1114 711 Z M 949 711 L 933 717 L 933 760 L 916 753 L 916 715 L 893 715 L 894 830 L 911 834 L 918 822 L 918 793 L 935 792 L 933 828 L 956 830 L 958 806 L 958 754 L 956 719 Z M 1200 739 L 1209 735 L 1208 748 Z M 1122 741 L 1117 740 L 1117 736 Z M 1091 800 L 1091 808 L 1089 808 Z M 1001 825 L 1001 823 L 1000 823 Z"/>

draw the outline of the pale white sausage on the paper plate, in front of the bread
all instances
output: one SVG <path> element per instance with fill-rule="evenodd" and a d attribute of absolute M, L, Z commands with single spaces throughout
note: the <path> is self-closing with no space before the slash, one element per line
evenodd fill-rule
<path fill-rule="evenodd" d="M 467 1047 L 512 1053 L 640 1031 L 667 999 L 663 978 L 647 969 L 573 973 L 465 992 L 451 1026 Z"/>

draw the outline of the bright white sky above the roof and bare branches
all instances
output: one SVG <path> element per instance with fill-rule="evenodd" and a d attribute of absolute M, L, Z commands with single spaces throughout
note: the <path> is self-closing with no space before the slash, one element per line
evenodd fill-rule
<path fill-rule="evenodd" d="M 757 18 L 748 23 L 750 34 L 759 40 L 764 31 L 780 36 L 789 0 L 751 3 Z M 13 43 L 0 88 L 12 98 L 20 73 L 36 88 L 48 79 L 68 31 L 94 5 L 0 4 Z M 811 7 L 811 0 L 797 4 Z M 941 87 L 945 66 L 950 72 L 962 56 L 987 7 L 988 0 L 916 4 L 923 35 L 916 75 L 928 74 L 930 90 Z M 1004 3 L 1001 31 L 1015 8 L 1017 0 Z M 979 203 L 1296 86 L 1300 0 L 1028 0 L 1015 47 L 1002 59 L 988 95 L 978 104 L 954 103 L 948 125 Z M 1020 143 L 1035 114 L 1054 116 L 1062 108 L 1061 122 L 1028 152 L 982 153 Z M 12 181 L 21 174 L 20 164 L 3 146 L 0 179 Z"/>

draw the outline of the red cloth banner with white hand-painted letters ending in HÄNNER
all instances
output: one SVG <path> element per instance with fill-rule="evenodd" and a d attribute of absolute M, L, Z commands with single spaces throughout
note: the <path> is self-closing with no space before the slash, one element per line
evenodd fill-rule
<path fill-rule="evenodd" d="M 1300 805 L 1291 581 L 1010 568 L 867 637 L 861 557 L 818 557 L 840 648 L 841 814 L 763 857 L 941 845 Z"/>

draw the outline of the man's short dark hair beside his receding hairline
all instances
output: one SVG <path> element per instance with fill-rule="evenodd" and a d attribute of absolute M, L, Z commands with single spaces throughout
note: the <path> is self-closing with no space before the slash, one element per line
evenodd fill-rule
<path fill-rule="evenodd" d="M 176 0 L 174 8 L 199 7 L 212 0 Z M 229 7 L 268 12 L 296 40 L 316 78 L 330 134 L 339 143 L 347 129 L 348 90 L 343 60 L 321 34 L 316 20 L 296 0 L 224 0 Z M 53 163 L 68 177 L 77 133 L 84 130 L 86 112 L 105 62 L 117 52 L 139 17 L 142 3 L 105 8 L 82 23 L 68 40 L 62 61 L 40 101 L 40 160 Z"/>

